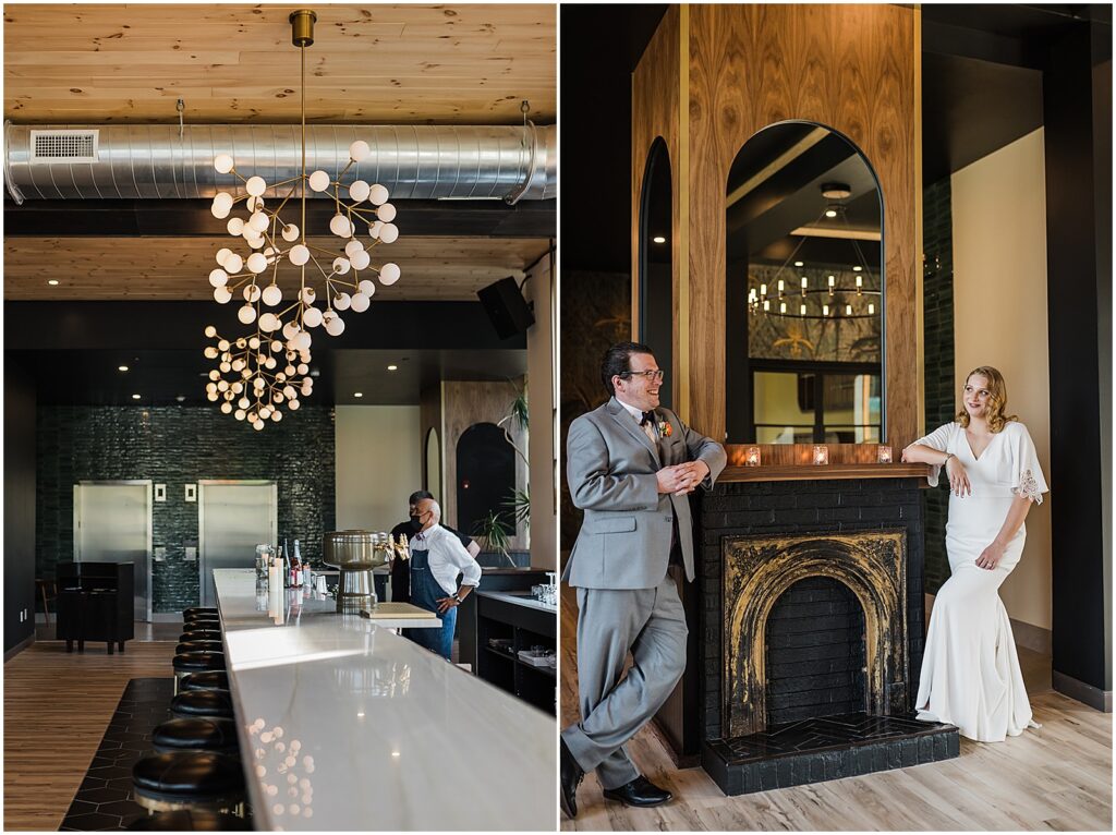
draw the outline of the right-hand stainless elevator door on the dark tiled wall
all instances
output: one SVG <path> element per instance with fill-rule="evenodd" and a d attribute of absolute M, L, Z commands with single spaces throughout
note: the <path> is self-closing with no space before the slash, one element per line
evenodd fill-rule
<path fill-rule="evenodd" d="M 199 481 L 201 605 L 217 605 L 215 568 L 252 568 L 256 546 L 273 545 L 277 531 L 278 496 L 273 481 Z"/>

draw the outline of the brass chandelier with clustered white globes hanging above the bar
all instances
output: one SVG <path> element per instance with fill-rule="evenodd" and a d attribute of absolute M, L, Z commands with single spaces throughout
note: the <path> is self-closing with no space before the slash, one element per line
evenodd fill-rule
<path fill-rule="evenodd" d="M 285 407 L 297 410 L 299 396 L 311 394 L 310 332 L 320 326 L 328 335 L 340 336 L 345 321 L 339 313 L 364 313 L 371 306 L 376 292 L 372 276 L 384 286 L 400 278 L 395 263 L 372 266 L 371 250 L 393 243 L 400 236 L 392 222 L 396 211 L 387 202 L 387 189 L 359 179 L 347 185 L 341 182 L 354 165 L 368 157 L 368 144 L 357 141 L 349 145 L 348 164 L 336 176 L 320 170 L 306 172 L 306 48 L 314 44 L 316 20 L 317 15 L 308 9 L 294 11 L 289 18 L 291 42 L 299 48 L 301 58 L 300 173 L 269 185 L 262 176 L 239 172 L 229 154 L 219 154 L 213 161 L 219 173 L 232 174 L 240 181 L 243 193 L 219 191 L 211 211 L 218 220 L 229 218 L 229 234 L 242 239 L 237 241 L 238 247 L 247 247 L 241 252 L 228 247 L 217 252 L 218 267 L 209 276 L 213 298 L 227 305 L 239 291 L 243 305 L 237 318 L 256 328 L 248 336 L 230 339 L 222 337 L 215 326 L 205 327 L 205 336 L 213 340 L 205 347 L 205 357 L 217 361 L 217 367 L 209 373 L 206 396 L 211 402 L 220 401 L 223 413 L 247 421 L 256 430 L 263 429 L 268 420 L 278 422 Z M 333 199 L 335 213 L 329 231 L 344 240 L 343 248 L 327 249 L 307 240 L 308 189 Z M 278 200 L 275 209 L 264 201 L 269 190 L 275 196 L 268 199 Z M 247 217 L 230 218 L 241 202 Z M 299 223 L 280 217 L 288 205 L 300 208 Z M 359 227 L 367 229 L 371 243 L 357 237 Z M 285 305 L 278 279 L 280 269 L 289 270 L 288 265 L 299 269 L 300 286 L 297 297 Z M 323 301 L 324 308 L 318 307 Z"/>

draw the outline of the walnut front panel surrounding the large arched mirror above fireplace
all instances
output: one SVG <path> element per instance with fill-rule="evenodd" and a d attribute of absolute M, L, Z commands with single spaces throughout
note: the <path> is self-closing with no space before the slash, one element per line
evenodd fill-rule
<path fill-rule="evenodd" d="M 668 35 L 672 20 L 676 17 L 664 20 L 656 39 L 664 28 Z M 807 119 L 849 138 L 879 179 L 886 441 L 902 448 L 918 436 L 921 425 L 914 11 L 855 4 L 691 6 L 686 29 L 689 83 L 680 106 L 687 114 L 687 147 L 680 153 L 689 159 L 689 190 L 679 199 L 689 205 L 686 324 L 692 337 L 680 349 L 689 353 L 690 423 L 712 438 L 724 436 L 724 193 L 730 166 L 761 128 Z M 664 52 L 648 48 L 635 75 L 633 147 L 636 136 L 654 129 L 651 125 L 670 128 L 661 108 L 647 104 L 667 95 L 654 88 L 654 79 L 673 66 Z M 653 73 L 651 63 L 664 66 Z M 639 182 L 633 179 L 633 192 Z"/>

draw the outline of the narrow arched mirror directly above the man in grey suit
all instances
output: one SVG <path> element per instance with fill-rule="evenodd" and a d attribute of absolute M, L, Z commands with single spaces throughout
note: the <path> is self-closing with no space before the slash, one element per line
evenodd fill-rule
<path fill-rule="evenodd" d="M 655 352 L 658 367 L 667 372 L 660 397 L 672 405 L 670 378 L 674 349 L 674 281 L 671 270 L 672 207 L 671 157 L 662 137 L 647 155 L 639 192 L 639 342 Z"/>

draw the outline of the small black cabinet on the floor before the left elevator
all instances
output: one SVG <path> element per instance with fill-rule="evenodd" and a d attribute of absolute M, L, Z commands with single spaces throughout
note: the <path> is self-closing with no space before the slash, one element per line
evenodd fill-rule
<path fill-rule="evenodd" d="M 59 563 L 58 620 L 55 637 L 66 642 L 66 652 L 85 652 L 86 641 L 104 641 L 108 654 L 114 646 L 135 637 L 135 597 L 132 563 Z"/>

